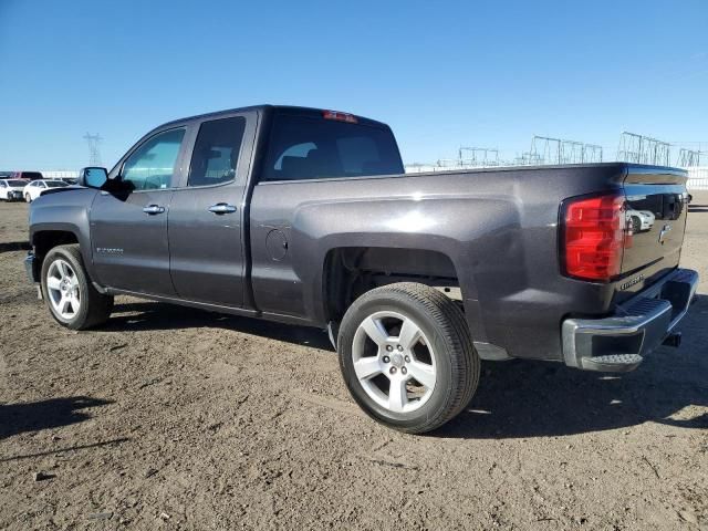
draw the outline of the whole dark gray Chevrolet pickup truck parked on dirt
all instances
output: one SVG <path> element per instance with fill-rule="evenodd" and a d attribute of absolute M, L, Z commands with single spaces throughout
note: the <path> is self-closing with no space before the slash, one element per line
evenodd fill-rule
<path fill-rule="evenodd" d="M 333 111 L 170 122 L 81 184 L 30 212 L 59 323 L 97 326 L 131 294 L 329 329 L 354 399 L 409 433 L 469 403 L 480 358 L 635 368 L 678 345 L 698 281 L 678 268 L 681 170 L 405 175 L 388 126 Z"/>

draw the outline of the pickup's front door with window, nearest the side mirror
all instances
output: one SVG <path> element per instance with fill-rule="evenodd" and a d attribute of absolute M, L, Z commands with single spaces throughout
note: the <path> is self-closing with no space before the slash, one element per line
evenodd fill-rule
<path fill-rule="evenodd" d="M 175 295 L 169 277 L 167 216 L 180 173 L 185 128 L 163 131 L 123 163 L 114 191 L 101 191 L 91 208 L 91 240 L 98 282 L 156 295 Z"/>

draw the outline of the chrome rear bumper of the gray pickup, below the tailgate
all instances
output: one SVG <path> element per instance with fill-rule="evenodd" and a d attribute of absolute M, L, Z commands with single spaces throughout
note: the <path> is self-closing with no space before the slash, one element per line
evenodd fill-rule
<path fill-rule="evenodd" d="M 626 372 L 674 332 L 696 294 L 698 273 L 677 269 L 604 319 L 563 322 L 565 364 L 585 371 Z"/>

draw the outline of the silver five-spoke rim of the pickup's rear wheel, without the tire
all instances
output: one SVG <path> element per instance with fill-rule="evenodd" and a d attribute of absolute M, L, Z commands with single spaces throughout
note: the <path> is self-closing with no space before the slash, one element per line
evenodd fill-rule
<path fill-rule="evenodd" d="M 352 345 L 354 372 L 364 392 L 393 413 L 423 406 L 436 382 L 436 355 L 410 317 L 376 312 L 362 321 Z"/>

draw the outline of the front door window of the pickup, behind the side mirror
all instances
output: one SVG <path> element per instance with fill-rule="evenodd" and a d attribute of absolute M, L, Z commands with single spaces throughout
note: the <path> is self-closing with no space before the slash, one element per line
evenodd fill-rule
<path fill-rule="evenodd" d="M 121 180 L 131 190 L 155 190 L 171 186 L 185 129 L 159 133 L 131 155 L 121 174 Z"/>

